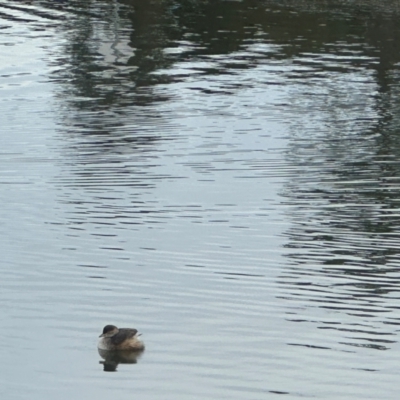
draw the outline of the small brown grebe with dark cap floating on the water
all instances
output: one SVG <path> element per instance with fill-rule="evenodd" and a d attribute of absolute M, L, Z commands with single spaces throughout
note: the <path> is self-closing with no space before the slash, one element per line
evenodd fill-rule
<path fill-rule="evenodd" d="M 143 350 L 144 343 L 139 336 L 136 329 L 118 329 L 114 325 L 106 325 L 97 347 L 100 350 Z"/>

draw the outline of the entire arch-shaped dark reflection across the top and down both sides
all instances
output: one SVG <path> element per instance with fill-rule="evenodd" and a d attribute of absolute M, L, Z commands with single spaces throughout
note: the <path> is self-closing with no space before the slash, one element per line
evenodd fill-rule
<path fill-rule="evenodd" d="M 2 4 L 2 16 L 12 20 L 13 8 L 23 11 L 23 4 Z M 173 146 L 198 139 L 199 147 L 208 146 L 209 153 L 204 148 L 201 153 L 206 159 L 220 144 L 179 129 L 186 117 L 228 118 L 229 106 L 221 98 L 234 95 L 229 98 L 241 99 L 243 108 L 252 111 L 235 121 L 250 136 L 259 133 L 247 130 L 244 121 L 261 114 L 268 125 L 276 109 L 275 118 L 289 127 L 286 165 L 271 171 L 266 163 L 262 176 L 279 173 L 286 179 L 281 194 L 290 221 L 285 233 L 288 265 L 279 284 L 292 304 L 311 314 L 325 310 L 327 319 L 294 312 L 293 321 L 317 327 L 340 324 L 331 331 L 351 335 L 338 339 L 346 345 L 385 349 L 392 343 L 382 345 L 381 336 L 394 336 L 400 324 L 395 317 L 400 261 L 398 1 L 33 4 L 45 22 L 30 22 L 39 15 L 32 8 L 26 18 L 18 15 L 21 21 L 35 29 L 58 21 L 57 29 L 64 33 L 51 61 L 51 79 L 63 167 L 57 184 L 61 201 L 75 207 L 70 218 L 75 229 L 88 221 L 135 225 L 148 224 L 149 214 L 173 215 L 163 204 L 148 201 L 153 193 L 145 195 L 159 182 L 191 178 L 184 168 L 178 175 L 174 167 L 181 165 L 180 157 L 198 156 L 198 148 L 179 152 Z M 186 91 L 181 91 L 183 84 Z M 283 100 L 265 105 L 257 97 L 241 98 L 245 90 L 268 92 L 276 86 Z M 165 107 L 170 103 L 176 108 Z M 244 140 L 235 151 L 245 149 Z M 171 158 L 163 158 L 164 152 Z M 186 166 L 206 165 L 203 170 L 212 180 L 220 172 L 208 167 L 213 161 L 198 157 Z M 241 167 L 248 167 L 253 177 L 264 165 L 263 160 L 246 161 Z M 255 165 L 261 167 L 256 171 Z M 82 189 L 87 197 L 80 197 Z"/>

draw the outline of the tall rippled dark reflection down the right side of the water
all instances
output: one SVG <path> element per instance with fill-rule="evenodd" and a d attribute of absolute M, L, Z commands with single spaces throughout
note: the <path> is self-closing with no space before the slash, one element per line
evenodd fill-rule
<path fill-rule="evenodd" d="M 290 263 L 280 284 L 296 307 L 309 310 L 306 318 L 302 313 L 291 320 L 335 330 L 341 344 L 387 350 L 397 342 L 400 324 L 393 302 L 400 255 L 394 184 L 400 169 L 393 161 L 400 147 L 384 137 L 397 135 L 393 122 L 400 103 L 389 103 L 387 93 L 378 95 L 375 75 L 365 70 L 368 63 L 373 68 L 375 58 L 364 56 L 364 66 L 353 64 L 345 74 L 315 75 L 313 96 L 306 88 L 297 92 L 298 116 L 291 121 L 287 150 L 297 175 L 282 193 L 291 221 Z M 396 86 L 385 91 L 396 92 Z M 299 127 L 307 132 L 301 140 Z M 316 319 L 315 307 L 329 313 Z"/>

